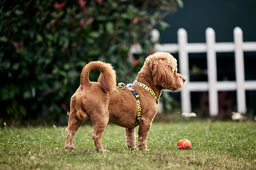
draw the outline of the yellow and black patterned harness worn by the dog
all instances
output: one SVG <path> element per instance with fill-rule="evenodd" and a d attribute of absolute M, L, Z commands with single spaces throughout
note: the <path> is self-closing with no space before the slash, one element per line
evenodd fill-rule
<path fill-rule="evenodd" d="M 135 80 L 133 83 L 131 84 L 125 84 L 125 83 L 118 83 L 118 87 L 121 88 L 121 89 L 125 89 L 125 88 L 128 88 L 134 95 L 136 101 L 137 101 L 137 117 L 136 117 L 136 122 L 135 122 L 135 126 L 138 126 L 139 125 L 139 120 L 141 120 L 141 102 L 139 101 L 139 94 L 131 87 L 133 87 L 134 85 L 138 85 L 138 86 L 141 86 L 143 87 L 144 89 L 146 89 L 148 92 L 150 92 L 150 94 L 152 96 L 154 96 L 155 100 L 156 100 L 156 104 L 159 103 L 159 97 L 157 97 L 155 95 L 155 92 L 150 88 L 148 87 L 146 84 L 143 84 L 141 82 L 138 82 L 137 80 Z"/>

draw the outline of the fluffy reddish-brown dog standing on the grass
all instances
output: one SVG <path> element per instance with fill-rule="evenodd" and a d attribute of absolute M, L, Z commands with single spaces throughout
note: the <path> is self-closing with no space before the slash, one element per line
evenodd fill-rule
<path fill-rule="evenodd" d="M 98 82 L 90 82 L 89 72 L 92 69 L 100 70 Z M 170 53 L 155 53 L 146 58 L 144 65 L 136 78 L 138 82 L 150 87 L 157 97 L 162 90 L 179 90 L 185 79 L 177 73 L 177 61 Z M 65 149 L 74 149 L 73 137 L 81 124 L 91 118 L 94 124 L 92 138 L 96 150 L 104 150 L 101 143 L 102 132 L 108 122 L 125 128 L 126 145 L 135 148 L 135 122 L 137 117 L 137 101 L 128 89 L 116 86 L 113 67 L 104 62 L 88 63 L 81 73 L 81 85 L 71 97 L 71 109 L 68 128 L 65 130 L 67 140 Z M 156 114 L 156 100 L 146 89 L 135 85 L 141 102 L 141 120 L 139 121 L 139 150 L 147 150 L 147 136 Z"/>

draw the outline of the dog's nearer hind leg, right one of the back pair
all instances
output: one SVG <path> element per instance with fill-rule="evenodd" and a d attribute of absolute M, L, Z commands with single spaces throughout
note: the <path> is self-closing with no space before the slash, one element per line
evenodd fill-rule
<path fill-rule="evenodd" d="M 102 152 L 109 152 L 109 150 L 104 150 L 102 143 L 101 143 L 101 137 L 103 131 L 106 129 L 106 126 L 108 125 L 109 122 L 109 113 L 104 112 L 104 113 L 94 113 L 93 116 L 91 116 L 91 119 L 94 124 L 94 131 L 92 134 L 92 138 L 94 140 L 94 145 L 96 147 L 97 151 L 102 151 Z"/>

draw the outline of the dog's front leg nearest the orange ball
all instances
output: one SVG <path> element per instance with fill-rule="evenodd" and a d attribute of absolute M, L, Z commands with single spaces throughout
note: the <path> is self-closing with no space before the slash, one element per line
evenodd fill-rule
<path fill-rule="evenodd" d="M 139 141 L 139 143 L 138 143 L 138 146 L 137 146 L 137 148 L 139 150 L 148 151 L 148 149 L 147 149 L 147 136 L 148 136 L 148 131 L 151 128 L 151 124 L 152 124 L 152 121 L 144 120 L 143 118 L 139 122 L 139 131 L 138 131 L 138 134 L 139 134 L 138 141 Z"/>

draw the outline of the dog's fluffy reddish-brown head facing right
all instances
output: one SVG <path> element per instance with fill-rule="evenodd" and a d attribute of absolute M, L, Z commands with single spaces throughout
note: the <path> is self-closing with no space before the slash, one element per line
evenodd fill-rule
<path fill-rule="evenodd" d="M 170 53 L 154 53 L 146 58 L 144 66 L 151 71 L 156 86 L 162 86 L 171 91 L 177 91 L 183 87 L 185 79 L 177 73 L 177 60 Z"/>

